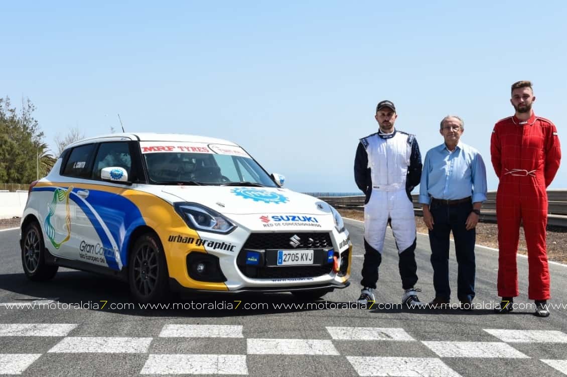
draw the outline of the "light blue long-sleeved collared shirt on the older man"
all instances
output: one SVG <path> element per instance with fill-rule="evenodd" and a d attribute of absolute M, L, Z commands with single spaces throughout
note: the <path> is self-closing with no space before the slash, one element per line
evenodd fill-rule
<path fill-rule="evenodd" d="M 425 155 L 420 182 L 420 203 L 431 197 L 456 200 L 472 196 L 472 202 L 486 200 L 486 167 L 479 151 L 459 143 L 449 151 L 445 143 L 429 149 Z"/>

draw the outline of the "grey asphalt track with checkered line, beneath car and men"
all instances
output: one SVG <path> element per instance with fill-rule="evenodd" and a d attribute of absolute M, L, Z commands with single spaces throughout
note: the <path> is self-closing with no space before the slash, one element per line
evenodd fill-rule
<path fill-rule="evenodd" d="M 31 282 L 20 265 L 19 231 L 0 232 L 0 374 L 567 374 L 566 266 L 549 266 L 550 303 L 565 305 L 551 309 L 549 318 L 536 318 L 532 309 L 493 314 L 490 305 L 498 302 L 497 252 L 480 247 L 475 303 L 484 309 L 355 309 L 362 223 L 345 221 L 354 245 L 352 285 L 325 295 L 316 302 L 318 307 L 309 309 L 290 294 L 199 295 L 178 301 L 181 308 L 142 309 L 130 306 L 124 283 L 67 269 L 60 269 L 53 281 Z M 422 289 L 421 300 L 429 301 L 434 295 L 429 242 L 424 235 L 417 241 L 416 287 Z M 403 292 L 389 232 L 386 247 L 376 299 L 393 306 Z M 451 258 L 452 301 L 458 302 L 454 254 Z M 515 303 L 530 303 L 527 259 L 518 257 L 518 267 L 521 295 Z M 39 307 L 39 302 L 47 305 Z"/>

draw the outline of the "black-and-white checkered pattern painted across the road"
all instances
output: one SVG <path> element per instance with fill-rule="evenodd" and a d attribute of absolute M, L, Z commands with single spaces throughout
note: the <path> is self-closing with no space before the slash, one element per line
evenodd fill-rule
<path fill-rule="evenodd" d="M 306 370 L 321 358 L 321 365 L 329 361 L 335 367 L 344 364 L 344 375 L 430 377 L 461 376 L 456 366 L 467 359 L 530 359 L 542 370 L 553 368 L 556 375 L 567 375 L 567 360 L 540 359 L 515 348 L 532 342 L 565 343 L 567 335 L 561 331 L 482 329 L 479 335 L 484 341 L 420 340 L 403 328 L 387 327 L 324 327 L 323 333 L 327 334 L 325 339 L 253 338 L 246 337 L 246 326 L 242 325 L 165 324 L 156 337 L 95 337 L 82 336 L 79 324 L 0 324 L 0 341 L 18 340 L 21 344 L 41 339 L 45 343 L 42 352 L 36 352 L 35 346 L 33 353 L 20 352 L 22 347 L 14 353 L 0 353 L 0 374 L 35 375 L 41 370 L 42 359 L 53 360 L 57 355 L 77 366 L 92 354 L 108 354 L 108 362 L 134 354 L 128 375 L 261 375 L 255 363 L 265 357 L 280 363 L 286 358 L 305 362 L 310 365 Z M 487 333 L 493 340 L 486 341 Z M 217 346 L 211 346 L 211 341 Z M 240 353 L 214 352 L 222 352 L 219 346 L 230 341 L 242 343 L 236 348 Z M 191 349 L 202 352 L 178 352 L 180 344 L 187 342 L 197 344 Z M 204 343 L 198 346 L 199 342 Z M 359 354 L 353 344 L 363 344 L 365 354 Z M 395 344 L 409 344 L 415 354 L 396 355 Z M 460 363 L 452 362 L 455 359 Z"/>

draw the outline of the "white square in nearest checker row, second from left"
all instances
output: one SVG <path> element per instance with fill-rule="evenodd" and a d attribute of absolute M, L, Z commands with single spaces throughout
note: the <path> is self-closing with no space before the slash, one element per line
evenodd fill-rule
<path fill-rule="evenodd" d="M 140 374 L 248 374 L 246 355 L 150 354 Z"/>

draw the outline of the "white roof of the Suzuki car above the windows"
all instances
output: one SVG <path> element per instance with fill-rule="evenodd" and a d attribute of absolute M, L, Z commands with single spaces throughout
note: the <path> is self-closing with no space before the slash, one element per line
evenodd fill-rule
<path fill-rule="evenodd" d="M 77 147 L 77 145 L 89 143 L 101 143 L 119 140 L 139 140 L 140 142 L 191 142 L 191 143 L 206 143 L 206 144 L 224 144 L 239 147 L 238 144 L 229 142 L 228 140 L 208 138 L 206 136 L 186 135 L 186 134 L 159 134 L 156 132 L 125 132 L 120 134 L 107 134 L 86 138 L 77 142 L 71 143 L 65 147 Z"/>

